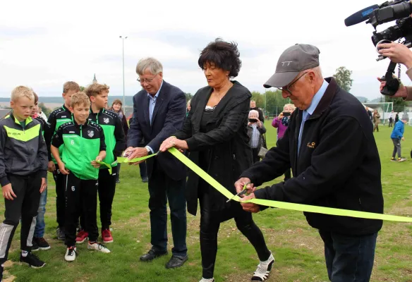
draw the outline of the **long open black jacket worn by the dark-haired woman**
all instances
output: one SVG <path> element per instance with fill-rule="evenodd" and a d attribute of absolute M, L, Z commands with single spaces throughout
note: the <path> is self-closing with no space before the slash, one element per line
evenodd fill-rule
<path fill-rule="evenodd" d="M 236 193 L 234 183 L 252 164 L 252 151 L 249 147 L 248 113 L 250 107 L 249 90 L 234 81 L 233 87 L 214 108 L 209 121 L 208 133 L 200 133 L 200 121 L 203 111 L 212 94 L 212 87 L 203 87 L 193 97 L 190 112 L 183 124 L 183 129 L 174 134 L 178 139 L 186 140 L 190 151 L 190 160 L 199 165 L 199 151 L 210 149 L 207 173 L 232 193 Z M 186 200 L 188 212 L 195 215 L 198 208 L 199 176 L 193 171 L 188 173 Z M 217 190 L 210 190 L 212 209 L 223 209 L 226 198 Z M 229 203 L 230 204 L 230 203 Z"/>

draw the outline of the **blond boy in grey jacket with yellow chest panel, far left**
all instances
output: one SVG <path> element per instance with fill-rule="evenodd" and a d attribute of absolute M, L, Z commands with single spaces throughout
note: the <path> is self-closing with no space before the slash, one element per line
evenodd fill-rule
<path fill-rule="evenodd" d="M 31 253 L 40 193 L 47 188 L 46 143 L 40 123 L 30 118 L 34 102 L 30 88 L 16 87 L 11 92 L 13 111 L 0 121 L 0 184 L 6 207 L 0 225 L 0 280 L 20 218 L 20 262 L 44 266 Z"/>

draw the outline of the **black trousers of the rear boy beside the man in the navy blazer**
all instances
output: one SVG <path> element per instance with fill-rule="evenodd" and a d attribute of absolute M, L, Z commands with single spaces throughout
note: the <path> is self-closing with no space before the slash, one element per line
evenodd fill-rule
<path fill-rule="evenodd" d="M 114 193 L 116 191 L 117 166 L 109 169 L 99 170 L 99 202 L 100 202 L 100 222 L 102 229 L 109 229 L 111 226 L 111 205 L 113 204 Z"/>

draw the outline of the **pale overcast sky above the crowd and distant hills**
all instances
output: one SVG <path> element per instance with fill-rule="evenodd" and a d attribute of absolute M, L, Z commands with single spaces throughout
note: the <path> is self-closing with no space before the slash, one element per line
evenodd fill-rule
<path fill-rule="evenodd" d="M 380 97 L 376 77 L 384 75 L 389 61 L 375 61 L 371 25 L 344 25 L 346 17 L 372 4 L 381 3 L 2 1 L 0 97 L 8 97 L 17 85 L 28 85 L 41 97 L 59 96 L 66 80 L 87 85 L 94 73 L 110 86 L 110 94 L 123 94 L 123 35 L 128 36 L 126 95 L 140 90 L 135 65 L 145 56 L 162 61 L 164 80 L 194 94 L 206 85 L 197 63 L 200 51 L 222 37 L 238 42 L 242 68 L 236 80 L 250 91 L 264 92 L 262 85 L 274 73 L 281 52 L 305 43 L 320 49 L 325 77 L 346 66 L 353 71 L 352 94 L 373 99 Z M 409 85 L 404 71 L 404 84 Z"/>

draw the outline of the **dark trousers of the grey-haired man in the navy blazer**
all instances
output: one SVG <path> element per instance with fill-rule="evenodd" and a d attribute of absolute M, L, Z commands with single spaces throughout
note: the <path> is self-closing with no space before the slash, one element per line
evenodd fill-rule
<path fill-rule="evenodd" d="M 173 255 L 186 256 L 186 179 L 173 180 L 160 169 L 156 162 L 149 178 L 149 209 L 152 248 L 157 252 L 167 250 L 167 209 L 169 200 Z"/>

